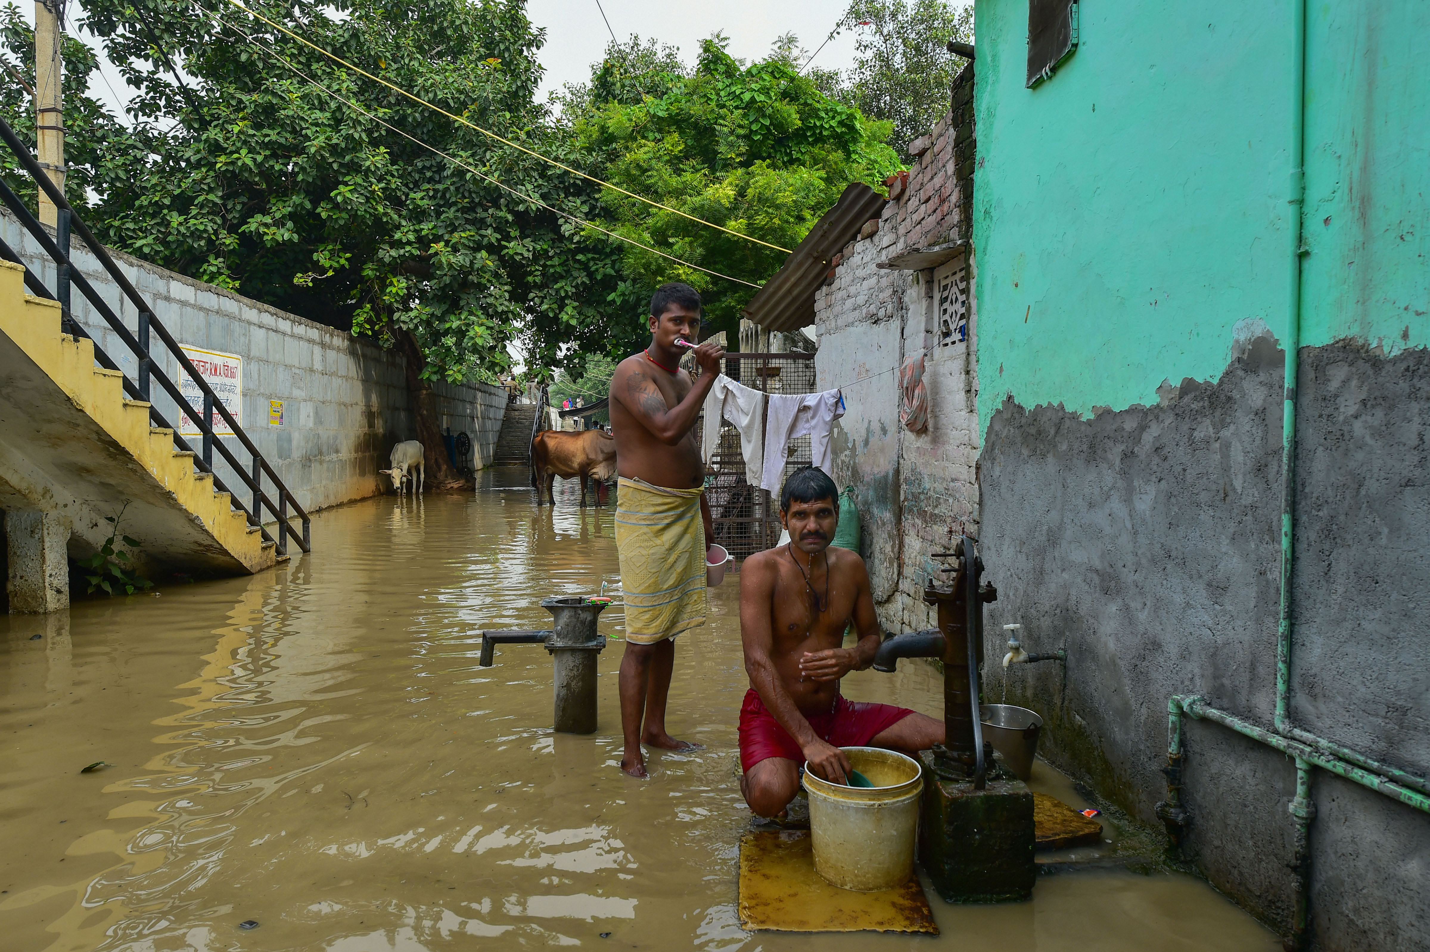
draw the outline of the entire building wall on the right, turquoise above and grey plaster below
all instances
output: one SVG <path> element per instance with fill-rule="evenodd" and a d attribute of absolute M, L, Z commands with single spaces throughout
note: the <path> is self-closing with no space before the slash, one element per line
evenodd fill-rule
<path fill-rule="evenodd" d="M 1067 650 L 985 690 L 1151 825 L 1168 696 L 1273 725 L 1293 287 L 1290 718 L 1430 778 L 1430 1 L 1308 0 L 1304 100 L 1291 3 L 1084 0 L 1031 90 L 1028 0 L 975 4 L 984 649 Z M 1287 933 L 1294 768 L 1185 738 L 1183 856 Z M 1313 948 L 1426 948 L 1430 816 L 1311 793 Z"/>

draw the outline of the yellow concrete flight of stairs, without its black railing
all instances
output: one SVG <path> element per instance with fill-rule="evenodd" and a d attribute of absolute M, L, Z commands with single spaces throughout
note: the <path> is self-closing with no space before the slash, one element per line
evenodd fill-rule
<path fill-rule="evenodd" d="M 150 405 L 124 396 L 123 375 L 96 365 L 94 342 L 61 333 L 60 306 L 24 293 L 24 267 L 0 262 L 0 507 L 59 515 L 72 555 L 123 532 L 153 569 L 260 572 L 276 545 L 249 525 Z"/>

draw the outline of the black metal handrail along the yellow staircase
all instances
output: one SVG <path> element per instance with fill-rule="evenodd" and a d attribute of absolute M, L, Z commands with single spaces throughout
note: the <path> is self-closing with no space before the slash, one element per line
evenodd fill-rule
<path fill-rule="evenodd" d="M 61 320 L 64 323 L 66 332 L 79 337 L 86 337 L 93 340 L 93 337 L 87 332 L 84 332 L 83 327 L 80 327 L 79 322 L 76 322 L 74 316 L 70 313 L 69 284 L 73 284 L 79 287 L 80 293 L 84 294 L 84 297 L 90 302 L 94 310 L 99 312 L 99 314 L 104 319 L 104 322 L 110 326 L 110 329 L 116 333 L 116 336 L 119 336 L 119 339 L 130 349 L 130 352 L 133 352 L 133 354 L 139 360 L 140 382 L 139 385 L 136 385 L 129 379 L 127 375 L 124 375 L 123 376 L 124 392 L 132 395 L 133 399 L 136 400 L 149 402 L 149 382 L 150 379 L 157 380 L 160 387 L 174 400 L 174 403 L 179 405 L 179 407 L 184 413 L 189 415 L 190 420 L 196 422 L 199 430 L 203 433 L 202 455 L 194 453 L 189 442 L 184 440 L 183 436 L 179 433 L 177 427 L 170 427 L 169 423 L 164 420 L 164 417 L 150 403 L 149 412 L 152 423 L 162 429 L 173 430 L 173 439 L 179 450 L 183 453 L 194 453 L 196 469 L 199 469 L 199 472 L 202 473 L 213 475 L 214 489 L 217 489 L 219 492 L 229 493 L 229 499 L 233 507 L 239 509 L 247 516 L 249 523 L 256 526 L 263 533 L 265 542 L 275 542 L 277 545 L 279 555 L 287 553 L 289 537 L 292 537 L 293 542 L 297 543 L 299 549 L 302 549 L 303 552 L 310 552 L 312 550 L 310 517 L 307 512 L 297 503 L 297 500 L 293 497 L 293 493 L 287 489 L 283 480 L 279 479 L 279 475 L 273 470 L 273 467 L 263 457 L 263 455 L 259 453 L 257 447 L 253 445 L 253 440 L 249 439 L 247 433 L 243 432 L 243 427 L 239 426 L 239 422 L 233 419 L 233 415 L 229 413 L 229 409 L 223 406 L 223 402 L 219 400 L 217 395 L 213 392 L 209 383 L 203 379 L 203 376 L 193 366 L 189 357 L 183 353 L 183 350 L 179 346 L 179 342 L 174 340 L 173 334 L 170 334 L 169 330 L 163 326 L 163 323 L 159 322 L 149 303 L 143 299 L 139 290 L 129 282 L 124 273 L 119 269 L 119 264 L 114 263 L 114 259 L 110 257 L 109 250 L 99 242 L 99 239 L 94 237 L 94 233 L 89 230 L 89 226 L 86 226 L 74 214 L 74 209 L 70 207 L 70 203 L 64 199 L 63 192 L 50 180 L 47 174 L 44 174 L 44 170 L 40 167 L 39 162 L 36 162 L 36 159 L 30 154 L 30 150 L 24 146 L 24 143 L 20 142 L 20 139 L 14 134 L 14 130 L 10 129 L 9 123 L 6 123 L 3 119 L 0 119 L 0 140 L 4 140 L 4 144 L 20 162 L 21 167 L 24 167 L 24 170 L 30 174 L 30 177 L 34 179 L 36 184 L 44 192 L 44 194 L 50 199 L 51 203 L 54 203 L 56 209 L 59 210 L 61 227 L 56 229 L 56 232 L 61 239 L 63 247 L 61 243 L 57 243 L 54 239 L 51 239 L 50 234 L 44 230 L 44 226 L 40 224 L 40 222 L 33 214 L 30 214 L 30 210 L 24 207 L 24 203 L 20 202 L 19 196 L 16 196 L 14 192 L 11 192 L 4 184 L 4 182 L 0 182 L 0 200 L 3 200 L 4 204 L 9 206 L 10 210 L 16 214 L 16 217 L 20 219 L 20 224 L 24 226 L 24 229 L 30 232 L 30 234 L 40 243 L 40 247 L 44 249 L 44 252 L 54 260 L 59 269 L 59 284 L 60 284 L 60 287 L 57 289 L 59 293 L 53 296 L 46 293 L 43 296 L 60 302 Z M 140 329 L 139 337 L 136 337 L 129 330 L 124 322 L 119 317 L 119 314 L 114 313 L 114 310 L 109 306 L 109 303 L 104 302 L 104 299 L 99 294 L 99 292 L 93 287 L 93 284 L 90 284 L 89 280 L 82 273 L 74 270 L 74 267 L 72 266 L 67 247 L 69 232 L 79 234 L 80 240 L 84 242 L 90 253 L 94 254 L 94 257 L 104 267 L 109 276 L 114 279 L 114 283 L 119 286 L 119 289 L 124 293 L 126 297 L 129 297 L 130 303 L 133 303 L 134 307 L 137 309 L 139 329 Z M 9 246 L 4 246 L 3 252 L 6 253 L 4 256 L 9 257 L 10 260 L 19 260 L 19 256 L 14 254 L 14 252 Z M 33 283 L 37 282 L 39 279 L 33 279 L 31 272 L 26 269 L 26 284 L 33 287 Z M 204 410 L 203 413 L 197 412 L 193 407 L 193 405 L 189 403 L 187 397 L 183 396 L 179 386 L 169 377 L 167 373 L 164 373 L 153 362 L 152 350 L 149 347 L 150 332 L 159 336 L 159 339 L 164 343 L 164 347 L 169 350 L 169 353 L 177 359 L 179 369 L 183 373 L 187 373 L 189 379 L 194 385 L 197 385 L 199 392 L 203 396 L 203 410 Z M 99 344 L 94 346 L 94 353 L 96 353 L 96 360 L 99 360 L 100 366 L 104 366 L 109 370 L 119 370 L 119 366 L 114 365 L 114 362 L 107 354 L 103 353 Z M 242 443 L 243 447 L 252 455 L 252 469 L 253 469 L 252 475 L 246 472 L 243 466 L 239 465 L 239 460 L 233 455 L 233 452 L 222 442 L 219 435 L 214 433 L 213 412 L 219 415 L 219 417 L 229 426 L 229 429 L 232 430 L 233 436 L 239 440 L 239 443 Z M 219 455 L 229 463 L 229 466 L 233 467 L 233 472 L 239 475 L 239 479 L 242 479 L 243 483 L 247 486 L 247 489 L 253 493 L 252 509 L 249 506 L 245 506 L 235 493 L 229 492 L 229 489 L 219 479 L 219 476 L 213 473 L 212 452 L 214 447 L 219 450 Z M 262 486 L 263 473 L 267 473 L 269 479 L 273 480 L 273 487 L 277 493 L 276 505 L 273 499 L 270 499 L 269 495 L 263 490 Z M 272 512 L 275 519 L 277 519 L 279 525 L 277 539 L 273 539 L 273 536 L 269 535 L 267 529 L 263 526 L 263 506 L 267 506 L 269 512 Z M 293 529 L 293 525 L 290 522 L 293 516 L 289 515 L 289 507 L 293 509 L 293 516 L 302 520 L 302 533 Z"/>

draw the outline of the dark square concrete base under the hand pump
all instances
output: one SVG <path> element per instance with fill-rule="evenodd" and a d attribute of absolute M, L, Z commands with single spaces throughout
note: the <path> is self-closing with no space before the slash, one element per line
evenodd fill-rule
<path fill-rule="evenodd" d="M 950 780 L 924 763 L 918 861 L 944 902 L 1017 902 L 1032 895 L 1032 792 L 1007 768 L 988 773 L 987 788 Z"/>

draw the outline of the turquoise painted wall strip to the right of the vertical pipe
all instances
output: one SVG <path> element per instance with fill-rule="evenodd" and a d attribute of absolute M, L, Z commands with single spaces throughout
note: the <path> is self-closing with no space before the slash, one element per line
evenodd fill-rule
<path fill-rule="evenodd" d="M 1430 344 L 1430 3 L 1307 6 L 1301 343 Z"/>

